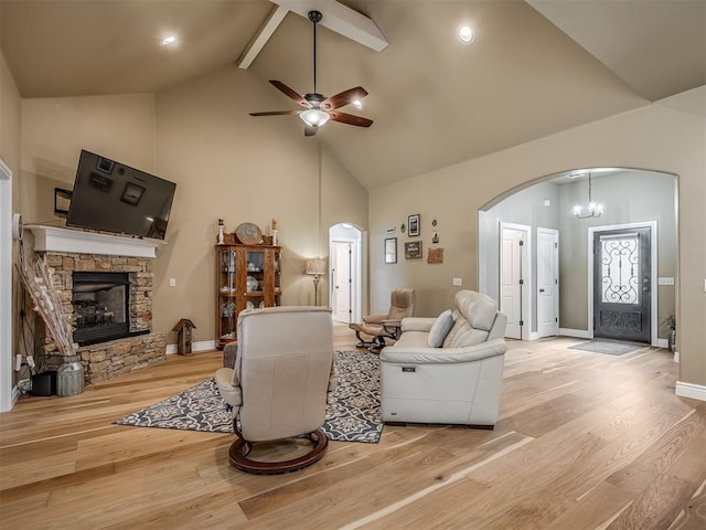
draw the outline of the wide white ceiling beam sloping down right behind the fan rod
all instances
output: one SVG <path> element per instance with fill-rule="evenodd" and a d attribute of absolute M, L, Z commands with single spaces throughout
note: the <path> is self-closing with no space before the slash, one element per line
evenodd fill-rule
<path fill-rule="evenodd" d="M 319 22 L 319 25 L 323 25 L 343 36 L 347 36 L 376 52 L 382 52 L 387 47 L 388 42 L 377 25 L 375 25 L 375 22 L 335 0 L 270 1 L 302 15 L 304 19 L 309 18 L 309 11 L 320 11 L 323 18 L 321 22 Z"/>

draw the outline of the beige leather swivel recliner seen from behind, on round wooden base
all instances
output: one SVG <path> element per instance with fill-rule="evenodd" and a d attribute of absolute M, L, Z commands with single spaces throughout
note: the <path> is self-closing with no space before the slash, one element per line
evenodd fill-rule
<path fill-rule="evenodd" d="M 238 316 L 237 337 L 235 365 L 215 375 L 232 406 L 237 435 L 231 463 L 247 473 L 271 475 L 318 462 L 328 445 L 321 430 L 328 394 L 338 383 L 331 309 L 246 309 Z M 248 458 L 253 444 L 299 436 L 312 444 L 303 456 L 284 462 Z"/>

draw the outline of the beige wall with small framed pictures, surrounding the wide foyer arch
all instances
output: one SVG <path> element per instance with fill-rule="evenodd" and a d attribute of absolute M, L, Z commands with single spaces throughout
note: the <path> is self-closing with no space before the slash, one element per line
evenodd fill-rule
<path fill-rule="evenodd" d="M 371 191 L 371 310 L 386 307 L 392 288 L 417 289 L 420 315 L 437 315 L 458 289 L 477 287 L 478 210 L 507 190 L 559 171 L 627 167 L 678 176 L 680 265 L 677 322 L 681 379 L 706 384 L 706 87 L 642 109 L 553 135 L 494 155 Z M 385 229 L 420 213 L 427 246 L 437 218 L 443 265 L 404 258 L 383 264 Z M 400 240 L 409 241 L 400 236 Z M 426 250 L 425 250 L 426 252 Z"/>

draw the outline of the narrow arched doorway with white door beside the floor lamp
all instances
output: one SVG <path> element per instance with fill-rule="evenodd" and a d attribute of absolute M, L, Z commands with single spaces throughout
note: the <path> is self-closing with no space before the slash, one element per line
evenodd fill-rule
<path fill-rule="evenodd" d="M 333 320 L 344 324 L 361 320 L 362 232 L 350 223 L 329 229 L 329 300 Z"/>

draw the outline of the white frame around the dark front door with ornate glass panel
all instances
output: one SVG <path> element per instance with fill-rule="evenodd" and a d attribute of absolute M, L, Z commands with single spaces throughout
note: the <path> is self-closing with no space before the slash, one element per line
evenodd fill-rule
<path fill-rule="evenodd" d="M 586 326 L 588 335 L 593 338 L 593 236 L 596 232 L 608 232 L 611 230 L 650 229 L 650 344 L 659 346 L 657 332 L 657 222 L 641 221 L 638 223 L 603 224 L 588 227 L 588 321 Z"/>

